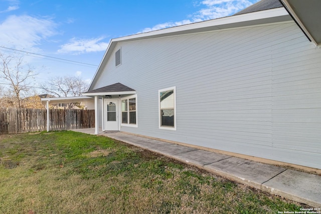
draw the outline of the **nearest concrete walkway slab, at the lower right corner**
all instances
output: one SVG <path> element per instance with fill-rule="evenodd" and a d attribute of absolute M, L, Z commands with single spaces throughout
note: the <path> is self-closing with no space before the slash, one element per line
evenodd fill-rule
<path fill-rule="evenodd" d="M 304 203 L 320 206 L 321 176 L 319 175 L 286 169 L 264 185 L 273 187 L 274 191 L 287 193 L 290 199 L 297 200 L 297 197 L 300 197 Z"/>

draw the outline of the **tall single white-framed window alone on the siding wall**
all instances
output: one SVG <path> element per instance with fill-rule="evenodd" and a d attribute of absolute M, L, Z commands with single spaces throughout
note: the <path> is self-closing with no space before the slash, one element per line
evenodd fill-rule
<path fill-rule="evenodd" d="M 158 90 L 159 128 L 176 130 L 176 87 Z"/>

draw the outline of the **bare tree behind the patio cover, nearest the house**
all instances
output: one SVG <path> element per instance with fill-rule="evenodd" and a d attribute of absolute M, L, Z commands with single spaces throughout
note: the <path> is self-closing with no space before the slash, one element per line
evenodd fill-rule
<path fill-rule="evenodd" d="M 76 76 L 53 77 L 41 85 L 47 93 L 56 97 L 81 96 L 88 88 L 88 83 Z M 77 105 L 77 103 L 76 103 Z M 69 103 L 67 108 L 72 108 L 75 103 Z"/>

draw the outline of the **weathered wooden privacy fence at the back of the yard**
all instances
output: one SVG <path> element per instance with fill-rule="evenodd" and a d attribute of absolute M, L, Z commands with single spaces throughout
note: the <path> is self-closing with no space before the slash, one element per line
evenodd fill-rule
<path fill-rule="evenodd" d="M 95 110 L 50 109 L 49 130 L 95 127 Z M 0 134 L 47 130 L 46 109 L 0 108 Z"/>

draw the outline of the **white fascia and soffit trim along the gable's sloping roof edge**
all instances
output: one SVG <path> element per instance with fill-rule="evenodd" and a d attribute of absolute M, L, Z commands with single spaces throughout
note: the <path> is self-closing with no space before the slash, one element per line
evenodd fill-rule
<path fill-rule="evenodd" d="M 89 91 L 93 90 L 95 83 L 99 79 L 106 64 L 111 58 L 114 52 L 114 49 L 116 48 L 117 44 L 120 42 L 139 41 L 139 40 L 162 38 L 162 37 L 168 37 L 168 36 L 179 36 L 179 35 L 192 34 L 192 33 L 208 32 L 208 31 L 219 31 L 219 30 L 225 30 L 225 29 L 231 29 L 231 28 L 240 28 L 240 27 L 262 25 L 262 24 L 269 24 L 269 23 L 275 23 L 275 22 L 291 21 L 291 20 L 292 19 L 287 13 L 287 11 L 283 7 L 281 7 L 281 8 L 274 8 L 270 10 L 224 17 L 224 18 L 219 18 L 215 20 L 208 20 L 208 21 L 192 23 L 188 25 L 182 25 L 182 26 L 166 28 L 162 30 L 151 31 L 151 32 L 141 33 L 141 34 L 134 34 L 130 36 L 112 39 L 109 42 L 108 48 L 99 64 L 99 67 L 90 83 L 88 90 Z"/>

